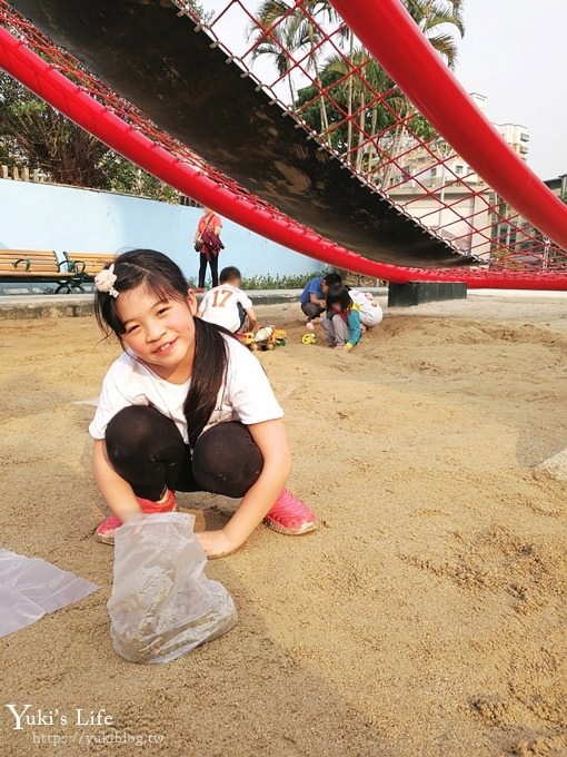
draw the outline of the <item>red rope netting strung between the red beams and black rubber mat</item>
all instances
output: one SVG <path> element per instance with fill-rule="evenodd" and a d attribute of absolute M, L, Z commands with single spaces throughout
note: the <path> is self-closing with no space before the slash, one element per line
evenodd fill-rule
<path fill-rule="evenodd" d="M 328 2 L 171 0 L 211 46 L 251 77 L 322 149 L 372 189 L 460 252 L 484 258 L 490 276 L 567 277 L 567 254 L 515 213 L 409 102 Z M 84 70 L 0 0 L 0 23 L 112 112 L 235 195 L 250 193 L 217 171 Z M 189 33 L 189 32 L 188 32 Z M 523 151 L 521 134 L 516 145 Z M 525 149 L 525 148 L 524 148 Z M 275 215 L 278 210 L 255 197 Z M 478 276 L 488 272 L 479 269 Z M 444 277 L 458 277 L 446 272 Z M 470 277 L 470 272 L 468 273 Z"/>

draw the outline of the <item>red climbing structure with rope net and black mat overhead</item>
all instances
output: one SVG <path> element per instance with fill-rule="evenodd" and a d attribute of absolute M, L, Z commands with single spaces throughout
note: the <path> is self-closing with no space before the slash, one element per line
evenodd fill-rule
<path fill-rule="evenodd" d="M 567 206 L 476 108 L 400 0 L 278 0 L 262 18 L 257 0 L 223 0 L 200 19 L 182 0 L 68 6 L 0 0 L 0 67 L 181 193 L 377 278 L 567 288 Z M 120 10 L 140 16 L 136 33 Z M 161 70 L 155 80 L 145 71 L 148 98 L 137 76 L 151 55 Z M 216 72 L 213 96 L 250 98 L 248 112 L 229 114 L 232 134 L 199 130 L 187 111 L 163 115 L 183 95 L 206 106 L 183 79 L 191 65 L 197 78 Z M 171 107 L 160 110 L 160 99 Z M 275 132 L 281 149 L 270 151 Z"/>

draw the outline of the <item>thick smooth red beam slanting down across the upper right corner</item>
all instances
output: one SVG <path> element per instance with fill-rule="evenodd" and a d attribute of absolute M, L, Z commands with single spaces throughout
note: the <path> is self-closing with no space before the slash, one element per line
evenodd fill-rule
<path fill-rule="evenodd" d="M 476 107 L 399 0 L 330 0 L 416 108 L 511 207 L 567 249 L 567 206 Z"/>

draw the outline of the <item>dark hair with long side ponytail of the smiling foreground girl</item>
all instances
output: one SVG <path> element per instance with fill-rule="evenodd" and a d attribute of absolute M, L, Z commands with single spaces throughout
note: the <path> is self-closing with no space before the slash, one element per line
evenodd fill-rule
<path fill-rule="evenodd" d="M 115 260 L 115 289 L 118 293 L 146 286 L 160 301 L 187 297 L 187 281 L 179 266 L 167 255 L 155 249 L 132 249 Z M 106 266 L 110 267 L 110 264 Z M 118 298 L 120 297 L 120 294 Z M 94 316 L 106 336 L 116 334 L 123 346 L 125 326 L 117 309 L 117 298 L 97 292 Z M 227 345 L 222 334 L 228 331 L 195 318 L 195 358 L 189 392 L 183 404 L 189 444 L 195 446 L 217 404 L 228 366 Z"/>

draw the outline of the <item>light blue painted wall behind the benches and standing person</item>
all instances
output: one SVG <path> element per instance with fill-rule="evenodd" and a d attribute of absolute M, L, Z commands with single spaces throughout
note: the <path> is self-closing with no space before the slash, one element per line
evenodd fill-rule
<path fill-rule="evenodd" d="M 198 208 L 140 197 L 48 184 L 0 179 L 0 248 L 113 253 L 159 249 L 196 277 L 192 248 Z M 236 265 L 246 277 L 320 271 L 324 264 L 298 255 L 223 219 L 220 267 Z"/>

